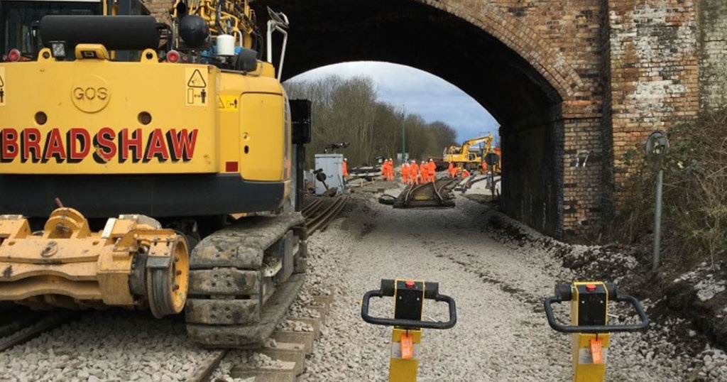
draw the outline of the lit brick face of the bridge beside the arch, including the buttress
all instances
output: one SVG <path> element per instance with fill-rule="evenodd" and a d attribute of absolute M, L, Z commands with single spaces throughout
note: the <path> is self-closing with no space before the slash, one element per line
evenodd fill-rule
<path fill-rule="evenodd" d="M 630 171 L 624 154 L 643 150 L 653 130 L 668 130 L 698 113 L 696 1 L 426 1 L 505 42 L 563 98 L 558 236 L 598 234 L 613 215 L 613 199 L 619 207 L 619 191 Z M 724 1 L 703 3 L 712 3 L 712 18 L 726 12 Z M 727 23 L 712 29 L 711 36 L 723 38 Z M 710 63 L 723 68 L 718 59 L 724 57 L 723 47 L 711 46 Z M 534 206 L 528 210 L 538 213 Z"/>

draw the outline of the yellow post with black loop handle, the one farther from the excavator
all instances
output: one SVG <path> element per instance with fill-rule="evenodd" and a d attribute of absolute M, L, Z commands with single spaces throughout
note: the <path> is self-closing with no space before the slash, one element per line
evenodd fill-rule
<path fill-rule="evenodd" d="M 560 324 L 553 315 L 553 303 L 571 301 L 571 325 Z M 630 303 L 640 319 L 637 324 L 608 324 L 608 301 Z M 611 332 L 648 329 L 648 317 L 636 298 L 621 293 L 614 284 L 573 282 L 555 284 L 555 295 L 545 298 L 547 322 L 561 333 L 573 333 L 573 382 L 603 382 Z"/>

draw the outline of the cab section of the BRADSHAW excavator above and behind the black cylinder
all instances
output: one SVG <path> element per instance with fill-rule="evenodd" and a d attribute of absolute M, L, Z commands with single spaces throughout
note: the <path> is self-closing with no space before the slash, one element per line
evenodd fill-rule
<path fill-rule="evenodd" d="M 4 38 L 0 52 L 18 49 L 33 57 L 43 47 L 38 25 L 45 15 L 101 15 L 100 1 L 7 1 L 0 0 L 0 26 Z"/>

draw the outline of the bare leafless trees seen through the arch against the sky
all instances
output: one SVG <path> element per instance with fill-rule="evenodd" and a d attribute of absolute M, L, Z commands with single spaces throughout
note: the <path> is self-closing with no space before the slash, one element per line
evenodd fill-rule
<path fill-rule="evenodd" d="M 312 102 L 308 165 L 326 145 L 342 142 L 350 143 L 341 152 L 353 165 L 372 164 L 376 156 L 393 158 L 401 151 L 402 138 L 409 156 L 423 160 L 441 156 L 443 148 L 453 144 L 457 135 L 444 122 L 427 124 L 418 114 L 404 115 L 394 106 L 377 101 L 377 89 L 370 77 L 326 76 L 316 81 L 286 82 L 284 86 L 289 98 L 308 98 Z"/>

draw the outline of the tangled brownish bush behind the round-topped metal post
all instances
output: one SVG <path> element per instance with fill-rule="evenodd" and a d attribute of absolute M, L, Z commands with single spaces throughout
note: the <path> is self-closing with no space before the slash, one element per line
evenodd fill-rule
<path fill-rule="evenodd" d="M 652 234 L 656 171 L 662 168 L 662 233 L 670 244 L 664 258 L 681 268 L 713 262 L 727 248 L 727 111 L 680 124 L 667 136 L 670 149 L 661 162 L 643 160 L 635 150 L 624 156 L 635 172 L 623 188 L 616 234 L 627 242 Z"/>

